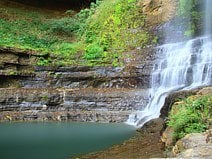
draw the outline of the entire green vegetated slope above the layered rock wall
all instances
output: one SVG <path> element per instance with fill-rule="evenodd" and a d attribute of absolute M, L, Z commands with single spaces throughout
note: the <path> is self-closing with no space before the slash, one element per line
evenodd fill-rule
<path fill-rule="evenodd" d="M 121 65 L 124 51 L 154 41 L 137 1 L 97 0 L 77 14 L 0 6 L 0 47 L 49 53 L 39 65 Z"/>

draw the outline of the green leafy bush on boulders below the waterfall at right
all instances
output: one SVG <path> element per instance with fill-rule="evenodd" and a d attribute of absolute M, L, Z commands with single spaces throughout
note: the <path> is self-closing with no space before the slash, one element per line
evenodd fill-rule
<path fill-rule="evenodd" d="M 174 138 L 189 133 L 203 132 L 211 122 L 212 96 L 191 96 L 177 102 L 169 114 L 168 126 L 174 129 Z"/>

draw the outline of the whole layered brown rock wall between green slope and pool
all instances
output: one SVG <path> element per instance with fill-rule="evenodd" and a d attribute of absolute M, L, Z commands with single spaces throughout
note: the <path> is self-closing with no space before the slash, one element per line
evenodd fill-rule
<path fill-rule="evenodd" d="M 41 55 L 1 49 L 0 120 L 124 122 L 147 104 L 152 63 L 41 67 Z M 47 56 L 47 55 L 44 55 Z M 144 58 L 145 57 L 145 58 Z"/>

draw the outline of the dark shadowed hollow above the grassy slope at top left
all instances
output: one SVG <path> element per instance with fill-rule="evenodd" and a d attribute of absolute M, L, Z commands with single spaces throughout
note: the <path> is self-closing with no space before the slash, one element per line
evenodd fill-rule
<path fill-rule="evenodd" d="M 90 6 L 96 0 L 12 0 L 21 4 L 51 10 L 80 10 Z"/>

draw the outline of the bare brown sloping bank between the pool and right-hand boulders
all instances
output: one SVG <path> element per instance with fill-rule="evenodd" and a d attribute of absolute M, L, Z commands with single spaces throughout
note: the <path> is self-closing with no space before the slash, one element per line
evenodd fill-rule
<path fill-rule="evenodd" d="M 120 145 L 87 154 L 74 157 L 74 159 L 147 159 L 164 158 L 164 144 L 160 140 L 163 130 L 164 120 L 162 118 L 154 119 L 139 129 L 136 136 L 125 141 Z"/>

